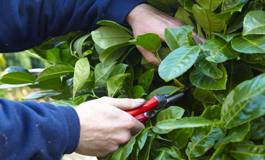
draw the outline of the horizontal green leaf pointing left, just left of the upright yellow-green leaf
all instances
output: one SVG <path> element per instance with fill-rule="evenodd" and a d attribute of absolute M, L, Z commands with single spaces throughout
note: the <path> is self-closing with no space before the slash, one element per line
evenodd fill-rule
<path fill-rule="evenodd" d="M 74 67 L 66 64 L 55 64 L 53 66 L 50 66 L 44 71 L 42 71 L 39 76 L 37 81 L 44 81 L 46 79 L 50 78 L 56 78 L 56 77 L 61 77 L 63 75 L 66 75 L 68 73 L 74 72 L 75 69 Z"/>

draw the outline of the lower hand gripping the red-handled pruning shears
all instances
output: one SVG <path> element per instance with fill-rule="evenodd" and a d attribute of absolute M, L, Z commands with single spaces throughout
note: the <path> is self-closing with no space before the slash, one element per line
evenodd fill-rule
<path fill-rule="evenodd" d="M 143 99 L 102 97 L 76 107 L 80 120 L 80 139 L 76 153 L 104 156 L 118 150 L 144 125 L 125 112 L 143 105 Z"/>

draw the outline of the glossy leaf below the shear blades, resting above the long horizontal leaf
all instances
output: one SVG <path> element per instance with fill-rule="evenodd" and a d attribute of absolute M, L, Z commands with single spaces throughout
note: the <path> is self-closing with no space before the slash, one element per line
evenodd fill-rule
<path fill-rule="evenodd" d="M 167 109 L 159 112 L 157 115 L 157 123 L 180 119 L 184 114 L 184 109 L 177 106 L 170 106 Z"/>

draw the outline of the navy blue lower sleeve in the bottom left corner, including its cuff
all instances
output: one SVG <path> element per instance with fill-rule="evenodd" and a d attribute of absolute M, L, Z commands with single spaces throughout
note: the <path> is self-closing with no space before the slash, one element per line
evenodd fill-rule
<path fill-rule="evenodd" d="M 60 159 L 76 150 L 79 136 L 72 107 L 0 99 L 0 159 Z"/>

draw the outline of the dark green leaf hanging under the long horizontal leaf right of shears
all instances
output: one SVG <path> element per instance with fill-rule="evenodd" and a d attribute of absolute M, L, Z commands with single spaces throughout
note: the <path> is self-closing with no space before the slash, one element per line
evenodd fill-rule
<path fill-rule="evenodd" d="M 174 146 L 181 149 L 185 147 L 192 133 L 193 128 L 174 129 L 168 133 L 168 139 L 173 141 Z"/>

